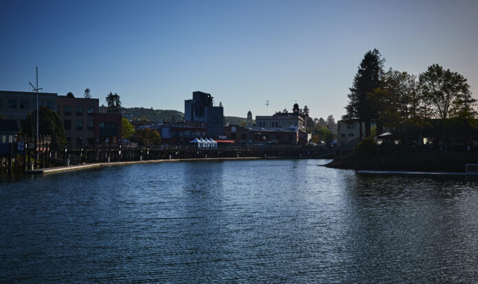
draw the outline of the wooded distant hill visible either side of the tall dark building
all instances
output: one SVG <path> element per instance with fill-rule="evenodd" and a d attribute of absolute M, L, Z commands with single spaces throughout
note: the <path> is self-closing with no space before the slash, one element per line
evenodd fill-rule
<path fill-rule="evenodd" d="M 184 117 L 184 113 L 179 110 L 155 110 L 152 108 L 122 108 L 121 113 L 128 120 L 145 117 L 149 121 L 155 122 L 181 121 Z M 247 121 L 244 117 L 225 117 L 225 119 L 229 124 L 239 124 Z"/>

